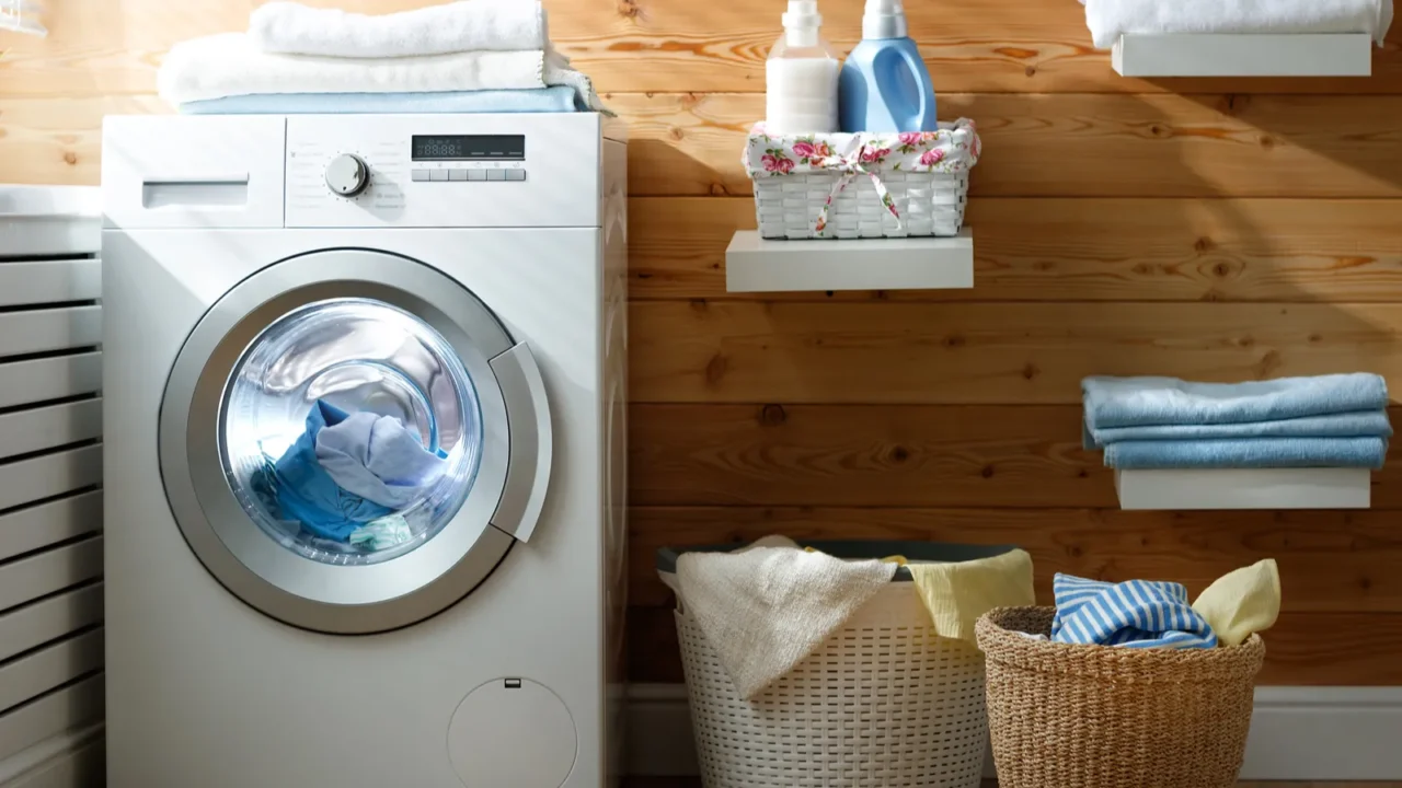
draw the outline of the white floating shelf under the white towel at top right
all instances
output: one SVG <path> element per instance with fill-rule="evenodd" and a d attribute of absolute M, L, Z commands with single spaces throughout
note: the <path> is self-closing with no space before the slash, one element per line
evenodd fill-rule
<path fill-rule="evenodd" d="M 1115 43 L 1110 60 L 1123 77 L 1367 77 L 1373 36 L 1131 34 Z"/>

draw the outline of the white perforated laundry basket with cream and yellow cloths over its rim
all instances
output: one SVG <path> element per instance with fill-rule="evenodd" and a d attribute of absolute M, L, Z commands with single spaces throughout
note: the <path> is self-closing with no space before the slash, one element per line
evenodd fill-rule
<path fill-rule="evenodd" d="M 908 573 L 901 572 L 908 578 Z M 974 788 L 988 740 L 983 653 L 935 635 L 892 582 L 753 701 L 679 600 L 705 788 Z"/>

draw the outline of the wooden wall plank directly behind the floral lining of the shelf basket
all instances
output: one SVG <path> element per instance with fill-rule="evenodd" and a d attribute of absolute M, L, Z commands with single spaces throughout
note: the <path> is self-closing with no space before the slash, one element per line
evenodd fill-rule
<path fill-rule="evenodd" d="M 610 101 L 634 196 L 750 193 L 763 95 Z M 979 122 L 974 196 L 1402 196 L 1402 97 L 948 94 L 941 116 Z"/>

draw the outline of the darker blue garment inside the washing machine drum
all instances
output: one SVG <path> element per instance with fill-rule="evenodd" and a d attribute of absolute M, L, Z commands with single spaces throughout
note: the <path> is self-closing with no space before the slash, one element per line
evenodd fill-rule
<path fill-rule="evenodd" d="M 394 512 L 348 492 L 317 461 L 317 435 L 349 415 L 317 400 L 307 414 L 307 429 L 273 466 L 273 488 L 283 516 L 301 522 L 315 536 L 336 541 L 346 541 L 365 523 Z"/>

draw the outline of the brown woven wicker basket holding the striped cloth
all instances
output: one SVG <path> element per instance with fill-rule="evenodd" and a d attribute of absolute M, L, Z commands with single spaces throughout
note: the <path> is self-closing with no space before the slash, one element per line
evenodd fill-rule
<path fill-rule="evenodd" d="M 1230 788 L 1251 728 L 1260 637 L 1216 649 L 1037 641 L 1052 607 L 979 620 L 1002 788 Z"/>

